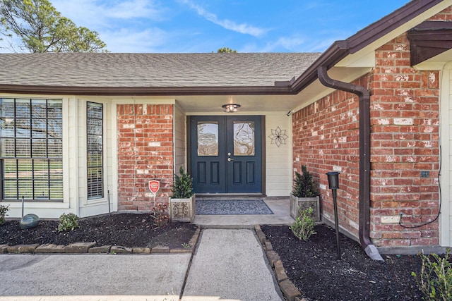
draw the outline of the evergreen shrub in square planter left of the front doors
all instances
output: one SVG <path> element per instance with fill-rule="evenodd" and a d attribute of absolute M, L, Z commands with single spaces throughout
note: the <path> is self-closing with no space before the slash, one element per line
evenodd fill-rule
<path fill-rule="evenodd" d="M 169 197 L 169 219 L 171 221 L 192 222 L 195 217 L 195 196 L 193 178 L 179 168 L 179 175 L 174 174 L 172 197 Z"/>

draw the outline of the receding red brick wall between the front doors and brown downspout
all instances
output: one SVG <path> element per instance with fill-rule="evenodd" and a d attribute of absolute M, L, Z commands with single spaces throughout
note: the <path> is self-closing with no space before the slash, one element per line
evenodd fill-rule
<path fill-rule="evenodd" d="M 367 86 L 367 78 L 355 82 Z M 321 188 L 321 214 L 334 221 L 328 171 L 340 172 L 339 224 L 357 236 L 359 204 L 359 102 L 335 91 L 292 115 L 293 164 L 306 165 Z"/>

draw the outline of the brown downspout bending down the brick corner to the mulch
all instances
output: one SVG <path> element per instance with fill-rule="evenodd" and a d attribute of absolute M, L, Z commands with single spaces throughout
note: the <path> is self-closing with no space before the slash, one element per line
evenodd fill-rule
<path fill-rule="evenodd" d="M 340 82 L 328 77 L 328 68 L 320 66 L 317 77 L 322 85 L 357 94 L 359 97 L 359 242 L 366 254 L 374 260 L 383 260 L 371 242 L 370 224 L 370 92 L 365 87 Z"/>

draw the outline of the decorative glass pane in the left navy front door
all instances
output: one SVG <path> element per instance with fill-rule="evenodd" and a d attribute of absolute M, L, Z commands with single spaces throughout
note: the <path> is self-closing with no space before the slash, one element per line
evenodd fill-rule
<path fill-rule="evenodd" d="M 218 122 L 198 122 L 198 156 L 218 156 Z"/>

